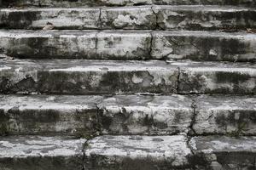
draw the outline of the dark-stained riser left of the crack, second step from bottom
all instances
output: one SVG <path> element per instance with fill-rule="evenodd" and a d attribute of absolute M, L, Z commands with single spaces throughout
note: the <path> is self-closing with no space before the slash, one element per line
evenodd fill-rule
<path fill-rule="evenodd" d="M 99 129 L 97 122 L 97 111 L 58 109 L 10 109 L 0 111 L 3 120 L 1 134 L 8 135 L 49 135 L 66 134 L 73 136 L 90 137 Z"/>

